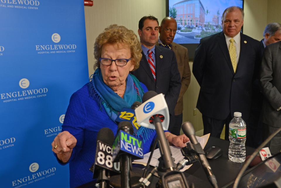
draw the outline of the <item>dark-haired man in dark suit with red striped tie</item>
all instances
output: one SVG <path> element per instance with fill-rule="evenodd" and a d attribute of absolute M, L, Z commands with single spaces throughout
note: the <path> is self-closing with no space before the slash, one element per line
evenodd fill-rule
<path fill-rule="evenodd" d="M 148 90 L 165 95 L 170 122 L 173 122 L 174 109 L 181 89 L 175 53 L 167 48 L 155 46 L 159 28 L 157 18 L 144 16 L 140 19 L 138 28 L 143 57 L 140 67 L 132 74 L 143 82 Z"/>

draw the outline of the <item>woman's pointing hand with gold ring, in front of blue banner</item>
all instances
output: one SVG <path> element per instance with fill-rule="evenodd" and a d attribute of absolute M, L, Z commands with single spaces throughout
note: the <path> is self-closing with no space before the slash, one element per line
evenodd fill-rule
<path fill-rule="evenodd" d="M 52 142 L 52 151 L 59 160 L 66 163 L 71 157 L 72 149 L 76 146 L 76 138 L 68 131 L 59 133 Z"/>

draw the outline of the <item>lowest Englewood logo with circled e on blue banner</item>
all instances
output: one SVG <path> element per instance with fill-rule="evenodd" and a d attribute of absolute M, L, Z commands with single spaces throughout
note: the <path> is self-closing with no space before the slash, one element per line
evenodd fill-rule
<path fill-rule="evenodd" d="M 13 188 L 23 187 L 25 185 L 51 177 L 51 176 L 55 175 L 55 171 L 56 171 L 56 167 L 50 167 L 48 169 L 44 169 L 44 170 L 40 171 L 39 164 L 37 162 L 31 163 L 29 165 L 28 169 L 32 174 L 30 174 L 30 173 L 28 174 L 28 172 L 26 172 L 25 177 L 21 177 L 21 178 L 18 178 L 16 180 L 12 181 Z"/>

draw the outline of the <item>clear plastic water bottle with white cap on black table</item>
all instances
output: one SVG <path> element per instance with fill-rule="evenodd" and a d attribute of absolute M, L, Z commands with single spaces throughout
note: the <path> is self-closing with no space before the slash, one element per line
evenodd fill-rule
<path fill-rule="evenodd" d="M 234 118 L 229 123 L 229 160 L 244 162 L 246 158 L 246 123 L 241 118 L 240 112 L 234 112 Z"/>

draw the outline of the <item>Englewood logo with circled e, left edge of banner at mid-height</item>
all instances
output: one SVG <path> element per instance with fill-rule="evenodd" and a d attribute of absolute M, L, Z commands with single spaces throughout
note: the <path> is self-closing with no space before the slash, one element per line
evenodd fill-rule
<path fill-rule="evenodd" d="M 25 90 L 1 93 L 0 100 L 6 103 L 6 102 L 35 99 L 35 98 L 47 96 L 48 88 L 42 87 L 36 89 L 33 88 L 27 89 L 29 87 L 29 84 L 30 82 L 28 79 L 26 78 L 20 79 L 19 86 Z"/>

